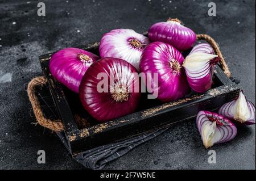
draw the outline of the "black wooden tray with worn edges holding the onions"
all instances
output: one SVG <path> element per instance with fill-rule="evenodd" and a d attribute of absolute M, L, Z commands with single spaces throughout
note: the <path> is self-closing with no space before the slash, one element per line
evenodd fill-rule
<path fill-rule="evenodd" d="M 98 46 L 99 43 L 94 43 L 79 48 L 99 54 Z M 39 56 L 39 60 L 48 79 L 49 91 L 56 110 L 63 121 L 72 155 L 96 146 L 170 127 L 180 121 L 195 120 L 200 110 L 216 111 L 222 104 L 236 98 L 240 90 L 236 83 L 226 77 L 220 66 L 216 66 L 212 89 L 203 94 L 191 94 L 187 98 L 162 104 L 156 99 L 146 99 L 145 93 L 137 112 L 106 123 L 98 123 L 84 110 L 79 96 L 61 85 L 49 73 L 51 54 Z M 77 119 L 83 120 L 86 124 L 77 125 Z"/>

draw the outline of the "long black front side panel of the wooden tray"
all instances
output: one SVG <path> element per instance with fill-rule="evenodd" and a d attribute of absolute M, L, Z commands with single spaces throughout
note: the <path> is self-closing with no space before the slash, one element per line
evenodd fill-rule
<path fill-rule="evenodd" d="M 163 110 L 146 117 L 143 117 L 143 112 L 138 112 L 136 113 L 137 116 L 130 115 L 121 120 L 123 123 L 120 124 L 123 125 L 119 124 L 109 128 L 106 127 L 106 129 L 102 128 L 100 132 L 97 132 L 98 128 L 96 128 L 88 131 L 88 134 L 82 138 L 81 134 L 83 131 L 80 131 L 79 134 L 74 134 L 77 138 L 71 141 L 72 152 L 73 154 L 77 154 L 82 151 L 80 148 L 86 150 L 109 144 L 110 142 L 121 141 L 139 134 L 155 131 L 159 128 L 170 127 L 181 121 L 195 121 L 195 117 L 199 111 L 216 111 L 225 102 L 236 98 L 240 90 L 231 86 L 229 88 L 232 90 L 210 98 L 209 96 L 203 97 L 196 102 L 180 105 L 174 110 Z M 134 119 L 131 120 L 131 118 Z M 126 119 L 129 121 L 129 124 L 125 124 Z"/>

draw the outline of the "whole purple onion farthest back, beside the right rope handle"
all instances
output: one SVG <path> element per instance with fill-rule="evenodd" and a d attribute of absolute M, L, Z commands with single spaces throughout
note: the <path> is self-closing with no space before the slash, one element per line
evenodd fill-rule
<path fill-rule="evenodd" d="M 168 43 L 178 50 L 187 50 L 196 42 L 196 33 L 181 25 L 179 19 L 169 18 L 167 22 L 153 24 L 148 30 L 151 41 Z"/>

